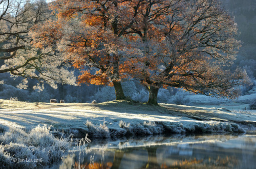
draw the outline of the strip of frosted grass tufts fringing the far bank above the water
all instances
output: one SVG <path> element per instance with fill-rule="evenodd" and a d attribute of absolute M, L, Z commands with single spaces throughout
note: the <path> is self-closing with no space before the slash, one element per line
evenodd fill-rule
<path fill-rule="evenodd" d="M 138 122 L 138 121 L 137 121 Z M 242 133 L 245 132 L 236 123 L 227 122 L 189 122 L 181 124 L 178 122 L 153 122 L 144 121 L 141 123 L 126 123 L 119 121 L 109 125 L 104 123 L 96 125 L 91 121 L 86 123 L 90 138 L 117 138 L 123 136 L 146 136 L 156 134 L 183 134 L 183 133 Z"/>

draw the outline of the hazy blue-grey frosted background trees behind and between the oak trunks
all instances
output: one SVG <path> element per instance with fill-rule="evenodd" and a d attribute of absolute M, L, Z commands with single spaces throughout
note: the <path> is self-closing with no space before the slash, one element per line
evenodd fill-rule
<path fill-rule="evenodd" d="M 78 71 L 75 71 L 75 74 Z M 13 80 L 8 73 L 1 74 L 1 78 L 5 81 L 4 85 L 0 85 L 0 99 L 17 99 L 19 101 L 30 102 L 49 102 L 51 98 L 56 98 L 58 101 L 64 99 L 66 102 L 87 102 L 91 103 L 97 100 L 98 103 L 105 101 L 115 100 L 115 89 L 110 86 L 98 85 L 84 85 L 72 86 L 58 84 L 57 89 L 53 89 L 49 85 L 44 86 L 44 90 L 38 92 L 34 90 L 33 86 L 36 85 L 36 80 L 29 80 L 27 83 L 28 88 L 17 89 L 22 78 L 18 77 Z M 130 99 L 138 102 L 146 102 L 148 100 L 148 92 L 143 88 L 139 81 L 125 81 L 122 82 L 124 95 Z M 131 90 L 133 89 L 133 90 Z M 160 103 L 175 103 L 189 105 L 189 94 L 180 91 L 177 88 L 160 89 L 158 92 L 157 101 Z"/>

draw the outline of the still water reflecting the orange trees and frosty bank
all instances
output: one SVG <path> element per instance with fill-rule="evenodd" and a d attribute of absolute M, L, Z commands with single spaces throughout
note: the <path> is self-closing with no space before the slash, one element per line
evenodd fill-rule
<path fill-rule="evenodd" d="M 58 168 L 256 168 L 256 135 L 174 135 L 92 140 Z"/>

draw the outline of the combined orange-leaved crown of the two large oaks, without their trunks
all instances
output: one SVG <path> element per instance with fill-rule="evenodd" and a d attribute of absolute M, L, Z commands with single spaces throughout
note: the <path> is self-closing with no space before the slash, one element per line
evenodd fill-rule
<path fill-rule="evenodd" d="M 143 85 L 235 97 L 231 89 L 246 77 L 222 70 L 240 42 L 237 25 L 216 0 L 53 4 L 57 20 L 35 27 L 39 38 L 33 44 L 56 45 L 75 68 L 97 69 L 81 71 L 79 84 L 137 78 Z"/>

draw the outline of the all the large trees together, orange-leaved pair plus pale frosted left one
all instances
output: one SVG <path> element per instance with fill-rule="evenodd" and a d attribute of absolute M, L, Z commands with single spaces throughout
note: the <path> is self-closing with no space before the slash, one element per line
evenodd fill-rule
<path fill-rule="evenodd" d="M 8 0 L 0 3 L 10 10 Z M 3 72 L 51 85 L 73 83 L 74 73 L 66 68 L 71 64 L 81 70 L 79 85 L 113 86 L 117 100 L 129 95 L 122 81 L 140 81 L 148 104 L 157 104 L 161 88 L 236 98 L 238 87 L 249 83 L 243 69 L 227 69 L 241 43 L 219 0 L 56 0 L 51 10 L 38 3 L 26 2 L 16 14 L 3 11 Z M 10 26 L 7 16 L 16 18 Z M 27 20 L 19 23 L 19 17 Z M 19 31 L 11 23 L 29 26 Z"/>

